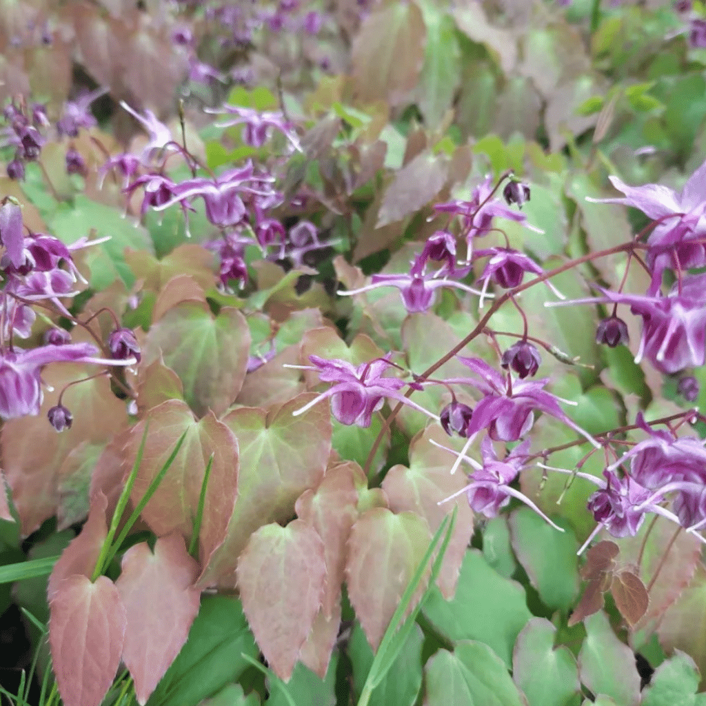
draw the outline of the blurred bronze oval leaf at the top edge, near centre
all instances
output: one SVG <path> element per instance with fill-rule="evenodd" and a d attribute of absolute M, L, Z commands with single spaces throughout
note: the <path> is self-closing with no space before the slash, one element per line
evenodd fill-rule
<path fill-rule="evenodd" d="M 353 40 L 353 78 L 362 102 L 401 105 L 417 86 L 426 28 L 414 2 L 373 10 Z"/>

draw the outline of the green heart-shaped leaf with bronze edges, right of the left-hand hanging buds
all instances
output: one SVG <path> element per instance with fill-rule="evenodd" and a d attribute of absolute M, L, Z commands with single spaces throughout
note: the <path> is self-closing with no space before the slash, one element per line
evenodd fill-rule
<path fill-rule="evenodd" d="M 250 330 L 245 317 L 225 306 L 212 316 L 208 306 L 179 304 L 150 328 L 144 364 L 160 352 L 164 364 L 184 385 L 184 399 L 200 417 L 220 415 L 232 404 L 245 379 Z"/>

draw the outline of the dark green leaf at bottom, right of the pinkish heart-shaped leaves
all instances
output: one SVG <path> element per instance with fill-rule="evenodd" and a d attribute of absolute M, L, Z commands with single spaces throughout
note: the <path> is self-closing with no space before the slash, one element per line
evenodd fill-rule
<path fill-rule="evenodd" d="M 189 638 L 148 700 L 148 706 L 191 706 L 237 681 L 258 649 L 240 602 L 225 596 L 201 600 Z"/>

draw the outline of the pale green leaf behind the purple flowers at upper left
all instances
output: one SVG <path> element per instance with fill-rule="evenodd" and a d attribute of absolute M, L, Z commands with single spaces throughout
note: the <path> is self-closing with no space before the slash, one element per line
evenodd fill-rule
<path fill-rule="evenodd" d="M 133 225 L 116 208 L 91 201 L 78 194 L 73 206 L 61 203 L 56 212 L 47 218 L 51 232 L 66 245 L 91 232 L 93 237 L 110 236 L 110 240 L 85 250 L 85 261 L 90 268 L 90 284 L 94 289 L 105 289 L 116 279 L 122 280 L 128 289 L 135 277 L 125 263 L 126 248 L 152 252 L 152 243 L 147 231 Z"/>

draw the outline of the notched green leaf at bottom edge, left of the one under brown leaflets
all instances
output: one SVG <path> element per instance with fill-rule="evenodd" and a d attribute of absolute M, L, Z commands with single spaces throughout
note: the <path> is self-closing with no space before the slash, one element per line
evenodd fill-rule
<path fill-rule="evenodd" d="M 556 628 L 532 618 L 517 635 L 513 650 L 513 681 L 528 706 L 565 706 L 580 693 L 576 659 L 566 645 L 554 647 Z"/>

